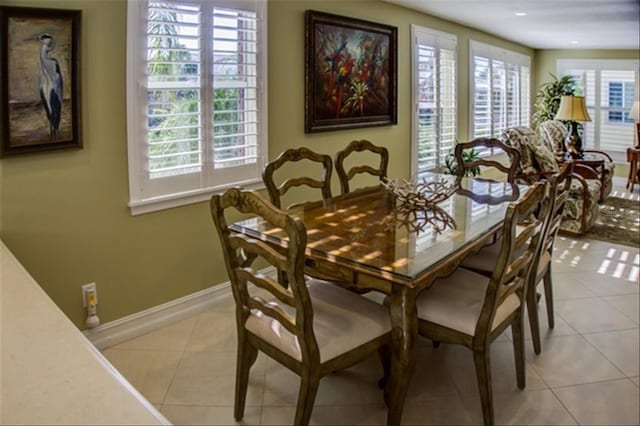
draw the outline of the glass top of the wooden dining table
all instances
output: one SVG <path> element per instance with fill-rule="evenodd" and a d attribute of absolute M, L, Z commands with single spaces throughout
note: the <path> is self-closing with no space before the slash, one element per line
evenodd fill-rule
<path fill-rule="evenodd" d="M 421 182 L 435 181 L 455 186 L 455 192 L 432 209 L 440 219 L 434 220 L 429 211 L 405 213 L 383 186 L 311 202 L 289 213 L 305 224 L 308 256 L 412 280 L 499 230 L 509 203 L 524 192 L 524 187 L 506 182 L 437 174 L 421 178 Z M 442 226 L 442 221 L 450 223 Z M 230 228 L 283 247 L 287 244 L 281 229 L 260 218 Z"/>

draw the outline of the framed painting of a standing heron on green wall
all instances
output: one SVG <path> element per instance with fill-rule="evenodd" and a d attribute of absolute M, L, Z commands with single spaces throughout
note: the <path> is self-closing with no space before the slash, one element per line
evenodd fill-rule
<path fill-rule="evenodd" d="M 82 147 L 81 13 L 0 7 L 0 156 Z"/>

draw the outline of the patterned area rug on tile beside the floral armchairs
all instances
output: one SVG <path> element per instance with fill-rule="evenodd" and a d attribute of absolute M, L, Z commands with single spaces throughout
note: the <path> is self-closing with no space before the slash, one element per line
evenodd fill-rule
<path fill-rule="evenodd" d="M 607 198 L 585 237 L 640 247 L 640 201 Z"/>

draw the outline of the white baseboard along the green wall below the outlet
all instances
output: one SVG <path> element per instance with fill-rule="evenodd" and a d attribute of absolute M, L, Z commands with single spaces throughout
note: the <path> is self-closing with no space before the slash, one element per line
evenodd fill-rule
<path fill-rule="evenodd" d="M 217 302 L 231 296 L 229 282 L 154 306 L 124 318 L 83 331 L 83 334 L 100 350 L 117 345 L 134 337 L 197 315 Z"/>

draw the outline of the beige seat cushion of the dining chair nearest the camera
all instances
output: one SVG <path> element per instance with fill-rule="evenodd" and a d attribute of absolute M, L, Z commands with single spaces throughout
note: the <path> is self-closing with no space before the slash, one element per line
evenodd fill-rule
<path fill-rule="evenodd" d="M 325 362 L 355 349 L 391 331 L 387 309 L 356 293 L 327 281 L 308 279 L 307 288 L 313 304 L 313 331 L 320 349 L 320 362 Z M 273 299 L 294 315 L 293 309 Z M 302 361 L 297 337 L 275 319 L 254 310 L 245 327 L 292 358 Z"/>

